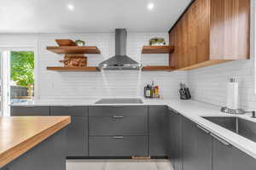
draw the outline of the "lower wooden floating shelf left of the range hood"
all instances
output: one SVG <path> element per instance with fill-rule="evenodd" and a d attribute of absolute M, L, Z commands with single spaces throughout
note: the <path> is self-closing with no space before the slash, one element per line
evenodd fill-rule
<path fill-rule="evenodd" d="M 63 66 L 48 66 L 48 71 L 101 71 L 96 66 L 88 67 L 63 67 Z"/>

